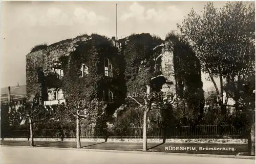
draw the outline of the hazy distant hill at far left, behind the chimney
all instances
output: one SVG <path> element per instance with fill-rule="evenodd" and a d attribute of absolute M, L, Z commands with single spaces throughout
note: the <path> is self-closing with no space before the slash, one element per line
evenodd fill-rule
<path fill-rule="evenodd" d="M 26 96 L 27 85 L 20 85 L 19 87 L 11 87 L 11 95 Z M 8 87 L 1 88 L 1 97 L 8 97 Z"/>

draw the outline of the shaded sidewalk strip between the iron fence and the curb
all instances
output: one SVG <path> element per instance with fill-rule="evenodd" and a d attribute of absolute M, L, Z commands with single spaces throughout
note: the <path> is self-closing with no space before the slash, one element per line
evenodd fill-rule
<path fill-rule="evenodd" d="M 76 142 L 74 141 L 35 141 L 34 144 L 36 147 L 76 148 Z M 30 142 L 1 141 L 1 145 L 29 146 Z M 143 145 L 142 143 L 129 142 L 81 142 L 81 147 L 82 149 L 142 151 Z M 238 155 L 241 152 L 248 152 L 247 144 L 148 143 L 147 147 L 148 151 L 164 153 Z"/>

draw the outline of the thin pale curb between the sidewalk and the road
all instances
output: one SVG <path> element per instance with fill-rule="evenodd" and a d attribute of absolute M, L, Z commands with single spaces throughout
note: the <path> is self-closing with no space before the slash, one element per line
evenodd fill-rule
<path fill-rule="evenodd" d="M 86 148 L 57 148 L 57 147 L 30 147 L 30 146 L 9 146 L 1 145 L 0 147 L 25 147 L 30 149 L 58 149 L 58 150 L 75 150 L 75 151 L 96 151 L 96 152 L 113 152 L 113 153 L 136 153 L 136 154 L 159 154 L 159 155 L 182 155 L 182 156 L 198 156 L 198 157 L 219 157 L 219 158 L 239 158 L 239 159 L 255 159 L 255 156 L 237 156 L 237 155 L 216 155 L 216 154 L 188 154 L 188 153 L 164 153 L 149 151 L 129 151 L 129 150 L 105 150 L 105 149 L 86 149 Z"/>

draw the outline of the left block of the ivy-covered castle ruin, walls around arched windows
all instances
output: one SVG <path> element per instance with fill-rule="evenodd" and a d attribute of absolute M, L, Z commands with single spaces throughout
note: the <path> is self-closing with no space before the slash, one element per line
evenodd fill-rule
<path fill-rule="evenodd" d="M 104 75 L 104 60 L 113 66 L 113 77 Z M 81 77 L 81 67 L 88 67 L 88 74 Z M 103 100 L 103 90 L 113 92 L 108 101 L 110 113 L 124 101 L 124 60 L 109 38 L 92 34 L 67 39 L 49 46 L 37 46 L 27 54 L 27 96 L 39 94 L 48 100 L 48 91 L 61 88 L 65 99 Z M 59 70 L 63 77 L 59 78 Z M 107 95 L 108 96 L 108 95 Z M 106 99 L 105 99 L 106 100 Z"/>

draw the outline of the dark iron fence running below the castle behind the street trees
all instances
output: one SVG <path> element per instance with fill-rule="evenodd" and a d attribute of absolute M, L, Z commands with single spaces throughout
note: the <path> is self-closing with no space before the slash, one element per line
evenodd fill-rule
<path fill-rule="evenodd" d="M 34 138 L 75 138 L 76 129 L 35 129 Z M 29 138 L 28 130 L 2 130 L 1 138 Z M 142 127 L 81 128 L 84 139 L 142 139 Z M 148 127 L 148 139 L 246 139 L 246 131 L 232 125 Z"/>

